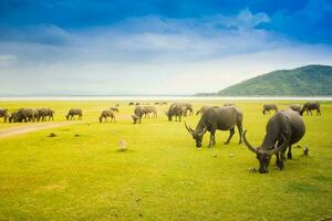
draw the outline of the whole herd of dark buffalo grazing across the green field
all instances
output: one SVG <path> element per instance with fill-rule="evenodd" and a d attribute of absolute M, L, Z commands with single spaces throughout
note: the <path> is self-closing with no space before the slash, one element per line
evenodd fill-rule
<path fill-rule="evenodd" d="M 167 103 L 155 103 L 155 105 L 165 105 Z M 142 117 L 157 117 L 157 108 L 147 104 L 134 104 L 131 102 L 128 105 L 136 105 L 134 114 L 132 115 L 134 124 L 142 123 Z M 247 140 L 247 130 L 242 129 L 243 114 L 234 104 L 225 104 L 224 106 L 203 106 L 196 112 L 196 115 L 201 115 L 197 126 L 193 129 L 185 123 L 185 127 L 196 141 L 196 147 L 201 147 L 203 137 L 206 131 L 210 133 L 210 139 L 208 147 L 216 144 L 215 134 L 216 130 L 229 130 L 229 137 L 225 144 L 229 144 L 231 137 L 235 134 L 237 127 L 239 133 L 239 144 L 242 141 L 249 150 L 255 152 L 259 160 L 259 172 L 268 172 L 268 167 L 272 155 L 277 157 L 277 167 L 283 169 L 283 162 L 287 158 L 292 159 L 291 147 L 298 143 L 305 134 L 305 126 L 302 119 L 302 115 L 305 112 L 307 115 L 312 115 L 312 110 L 317 110 L 317 115 L 321 115 L 320 104 L 318 102 L 308 102 L 302 107 L 299 104 L 290 105 L 286 110 L 278 110 L 276 104 L 266 104 L 262 107 L 262 114 L 270 114 L 274 110 L 276 114 L 268 120 L 266 126 L 266 136 L 258 147 L 253 147 Z M 115 122 L 115 113 L 118 112 L 118 105 L 105 109 L 101 113 L 100 122 Z M 7 108 L 0 108 L 0 117 L 4 118 L 4 122 L 9 123 L 22 123 L 22 122 L 45 122 L 53 120 L 54 110 L 51 108 L 19 108 L 11 114 Z M 181 120 L 183 116 L 194 115 L 193 105 L 189 103 L 173 103 L 168 110 L 165 112 L 168 120 Z M 83 113 L 81 108 L 71 108 L 65 116 L 68 120 L 74 119 L 77 116 L 82 119 Z"/>

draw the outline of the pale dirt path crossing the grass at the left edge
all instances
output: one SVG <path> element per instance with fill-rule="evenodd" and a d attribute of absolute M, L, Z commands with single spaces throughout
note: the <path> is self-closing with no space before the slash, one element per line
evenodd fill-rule
<path fill-rule="evenodd" d="M 59 123 L 39 123 L 33 125 L 25 125 L 20 127 L 12 127 L 8 129 L 0 129 L 0 138 L 10 137 L 14 135 L 28 134 L 42 129 L 49 129 L 53 127 L 61 127 L 74 124 L 75 122 L 59 122 Z"/>

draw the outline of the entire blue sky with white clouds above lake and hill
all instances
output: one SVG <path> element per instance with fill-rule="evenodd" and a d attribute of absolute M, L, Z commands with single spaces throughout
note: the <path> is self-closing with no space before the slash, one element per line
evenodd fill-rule
<path fill-rule="evenodd" d="M 0 87 L 219 91 L 277 69 L 331 65 L 331 0 L 0 0 Z"/>

